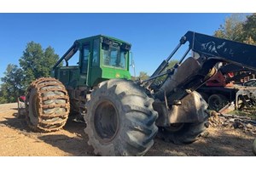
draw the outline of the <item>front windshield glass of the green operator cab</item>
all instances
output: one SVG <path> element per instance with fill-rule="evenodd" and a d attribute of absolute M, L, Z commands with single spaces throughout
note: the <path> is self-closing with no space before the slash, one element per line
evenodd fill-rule
<path fill-rule="evenodd" d="M 102 63 L 105 66 L 126 69 L 127 51 L 120 48 L 119 44 L 102 43 Z"/>

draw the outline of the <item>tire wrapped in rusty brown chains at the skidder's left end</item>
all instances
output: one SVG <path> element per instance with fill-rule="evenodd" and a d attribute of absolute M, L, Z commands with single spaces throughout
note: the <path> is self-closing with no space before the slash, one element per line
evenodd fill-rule
<path fill-rule="evenodd" d="M 39 78 L 27 88 L 26 122 L 32 130 L 45 133 L 61 129 L 69 110 L 67 90 L 55 78 Z"/>

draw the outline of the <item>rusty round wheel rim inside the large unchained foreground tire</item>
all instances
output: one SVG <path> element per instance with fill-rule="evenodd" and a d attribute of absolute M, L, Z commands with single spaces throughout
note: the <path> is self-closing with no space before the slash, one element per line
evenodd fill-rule
<path fill-rule="evenodd" d="M 94 124 L 101 142 L 114 139 L 119 130 L 119 114 L 112 102 L 105 100 L 96 106 Z"/>

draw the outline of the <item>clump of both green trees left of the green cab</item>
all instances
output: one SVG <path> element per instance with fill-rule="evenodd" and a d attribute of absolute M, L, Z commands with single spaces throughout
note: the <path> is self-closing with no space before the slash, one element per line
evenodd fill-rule
<path fill-rule="evenodd" d="M 29 84 L 39 77 L 49 77 L 51 68 L 59 59 L 52 47 L 42 48 L 39 43 L 28 42 L 19 59 L 19 65 L 9 64 L 1 78 L 0 104 L 16 102 L 26 93 Z"/>

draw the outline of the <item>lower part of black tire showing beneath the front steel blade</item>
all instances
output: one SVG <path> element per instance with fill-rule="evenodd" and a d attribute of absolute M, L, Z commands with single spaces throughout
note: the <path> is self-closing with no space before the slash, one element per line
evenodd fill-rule
<path fill-rule="evenodd" d="M 208 127 L 207 121 L 194 123 L 179 123 L 170 127 L 159 127 L 158 137 L 174 144 L 191 144 L 201 138 Z M 174 128 L 176 126 L 176 128 Z"/>

